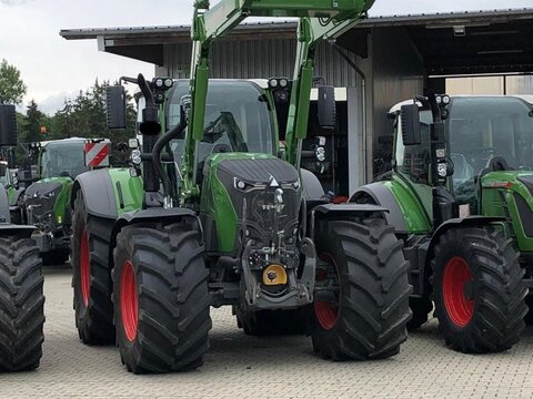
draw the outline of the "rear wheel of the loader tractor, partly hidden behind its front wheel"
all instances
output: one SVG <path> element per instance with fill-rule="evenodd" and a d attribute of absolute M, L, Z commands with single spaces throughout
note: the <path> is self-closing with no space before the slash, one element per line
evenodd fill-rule
<path fill-rule="evenodd" d="M 74 200 L 72 232 L 72 288 L 78 335 L 89 345 L 113 342 L 110 228 L 103 219 L 88 215 L 81 190 Z"/>

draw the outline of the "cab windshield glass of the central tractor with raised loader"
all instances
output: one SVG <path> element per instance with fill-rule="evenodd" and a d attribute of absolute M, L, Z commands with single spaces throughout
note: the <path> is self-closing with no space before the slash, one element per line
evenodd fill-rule
<path fill-rule="evenodd" d="M 180 122 L 180 102 L 188 82 L 177 82 L 170 92 L 168 129 Z M 273 129 L 269 104 L 260 89 L 245 81 L 210 81 L 203 140 L 199 160 L 219 152 L 273 153 Z M 184 135 L 171 142 L 174 160 L 184 152 Z"/>

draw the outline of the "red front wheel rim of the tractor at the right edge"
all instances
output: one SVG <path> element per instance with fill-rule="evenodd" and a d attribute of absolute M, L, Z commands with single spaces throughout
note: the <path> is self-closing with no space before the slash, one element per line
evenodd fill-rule
<path fill-rule="evenodd" d="M 442 296 L 447 316 L 459 327 L 466 326 L 474 315 L 474 301 L 464 295 L 465 284 L 472 283 L 469 264 L 460 256 L 444 267 Z"/>

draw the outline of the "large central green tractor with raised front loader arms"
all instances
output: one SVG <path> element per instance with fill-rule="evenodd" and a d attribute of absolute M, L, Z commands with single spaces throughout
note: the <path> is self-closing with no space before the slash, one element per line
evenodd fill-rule
<path fill-rule="evenodd" d="M 72 188 L 83 342 L 115 341 L 135 374 L 197 368 L 209 348 L 210 307 L 232 306 L 248 334 L 306 323 L 324 358 L 399 352 L 411 287 L 386 209 L 330 204 L 300 168 L 316 44 L 371 3 L 195 1 L 189 90 L 171 79 L 123 79 L 142 92 L 141 147 L 131 167 L 82 174 Z M 300 18 L 292 82 L 208 79 L 212 41 L 248 16 Z M 332 88 L 320 90 L 322 124 L 332 125 Z M 108 90 L 110 127 L 124 126 L 124 99 L 123 86 Z M 283 99 L 286 132 L 276 116 Z"/>

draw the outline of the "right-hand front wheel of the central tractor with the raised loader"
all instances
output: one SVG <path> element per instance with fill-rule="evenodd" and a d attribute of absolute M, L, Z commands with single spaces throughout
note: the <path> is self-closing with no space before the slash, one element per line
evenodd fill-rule
<path fill-rule="evenodd" d="M 316 284 L 338 287 L 330 301 L 313 304 L 314 351 L 333 360 L 396 355 L 411 318 L 409 263 L 394 228 L 383 219 L 324 221 L 316 241 L 325 266 Z"/>

